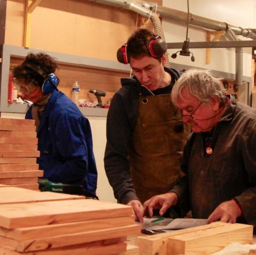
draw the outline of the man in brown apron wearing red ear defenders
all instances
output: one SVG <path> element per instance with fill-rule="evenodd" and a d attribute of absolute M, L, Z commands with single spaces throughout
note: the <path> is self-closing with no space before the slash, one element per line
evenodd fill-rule
<path fill-rule="evenodd" d="M 166 43 L 148 29 L 135 31 L 117 51 L 134 76 L 122 78 L 107 117 L 105 170 L 115 198 L 143 221 L 142 203 L 169 191 L 182 174 L 187 132 L 171 102 L 180 72 L 165 68 Z"/>

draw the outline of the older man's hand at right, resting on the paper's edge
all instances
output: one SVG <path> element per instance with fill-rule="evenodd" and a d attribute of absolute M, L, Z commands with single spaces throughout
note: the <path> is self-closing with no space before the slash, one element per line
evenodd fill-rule
<path fill-rule="evenodd" d="M 236 219 L 242 215 L 242 211 L 234 200 L 225 201 L 218 205 L 208 218 L 208 223 L 220 220 L 226 223 L 236 223 Z"/>

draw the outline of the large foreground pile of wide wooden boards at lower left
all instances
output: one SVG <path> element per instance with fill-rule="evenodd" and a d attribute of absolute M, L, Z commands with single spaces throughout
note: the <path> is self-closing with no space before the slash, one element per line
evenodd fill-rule
<path fill-rule="evenodd" d="M 2 187 L 0 254 L 126 254 L 126 237 L 140 233 L 132 213 L 84 196 Z"/>

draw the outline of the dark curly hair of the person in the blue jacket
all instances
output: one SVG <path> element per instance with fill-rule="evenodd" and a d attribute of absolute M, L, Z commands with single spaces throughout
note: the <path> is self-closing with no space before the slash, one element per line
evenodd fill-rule
<path fill-rule="evenodd" d="M 29 68 L 26 63 L 33 65 L 37 70 L 39 69 L 44 76 Z M 33 83 L 42 87 L 45 78 L 50 73 L 54 73 L 56 69 L 59 68 L 53 57 L 45 53 L 29 53 L 25 61 L 21 65 L 14 67 L 12 72 L 15 79 L 23 79 L 26 84 Z"/>

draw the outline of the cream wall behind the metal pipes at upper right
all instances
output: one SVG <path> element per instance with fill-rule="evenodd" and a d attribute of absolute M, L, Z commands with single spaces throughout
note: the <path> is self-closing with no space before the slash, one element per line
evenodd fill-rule
<path fill-rule="evenodd" d="M 237 27 L 255 27 L 255 1 L 253 0 L 190 0 L 189 12 L 208 19 L 227 22 Z M 163 6 L 187 12 L 186 0 L 163 0 Z M 167 43 L 183 42 L 186 39 L 186 27 L 173 24 L 170 20 L 163 19 L 163 29 Z M 204 29 L 189 28 L 188 37 L 190 42 L 205 42 L 206 32 Z M 250 40 L 239 37 L 243 40 Z M 171 59 L 171 54 L 180 49 L 169 50 L 170 62 L 191 65 L 193 67 L 207 68 L 217 71 L 235 73 L 235 49 L 212 48 L 211 62 L 205 64 L 205 49 L 190 49 L 195 56 L 195 62 L 190 57 L 177 56 Z M 251 48 L 244 48 L 243 75 L 251 76 Z"/>

